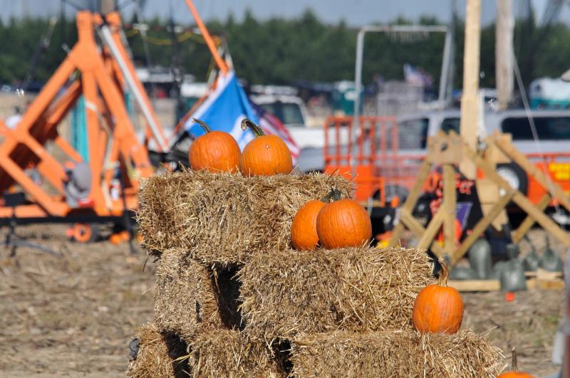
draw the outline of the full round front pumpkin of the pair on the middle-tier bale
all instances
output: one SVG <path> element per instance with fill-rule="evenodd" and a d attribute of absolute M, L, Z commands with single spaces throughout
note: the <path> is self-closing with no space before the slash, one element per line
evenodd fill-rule
<path fill-rule="evenodd" d="M 321 246 L 331 248 L 362 246 L 370 241 L 372 224 L 366 210 L 353 199 L 340 199 L 333 189 L 333 202 L 323 206 L 316 217 L 316 232 Z"/>

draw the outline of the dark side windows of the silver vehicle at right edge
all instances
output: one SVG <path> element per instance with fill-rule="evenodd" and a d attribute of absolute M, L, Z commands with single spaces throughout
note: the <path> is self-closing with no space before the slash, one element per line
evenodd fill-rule
<path fill-rule="evenodd" d="M 539 140 L 569 140 L 570 117 L 534 117 Z M 534 140 L 527 117 L 509 117 L 501 122 L 503 132 L 513 140 Z"/>

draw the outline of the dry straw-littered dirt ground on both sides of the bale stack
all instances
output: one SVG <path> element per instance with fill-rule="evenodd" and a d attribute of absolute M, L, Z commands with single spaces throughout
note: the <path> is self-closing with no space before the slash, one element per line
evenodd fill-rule
<path fill-rule="evenodd" d="M 0 251 L 0 376 L 124 377 L 133 330 L 152 320 L 154 264 L 142 271 L 145 254 L 130 256 L 125 243 L 71 243 L 65 226 L 18 232 L 64 257 L 21 248 L 8 258 Z M 544 235 L 533 233 L 537 240 Z M 562 292 L 517 293 L 510 303 L 504 293 L 463 297 L 464 326 L 490 330 L 504 350 L 516 346 L 519 367 L 536 377 L 557 371 L 550 355 Z"/>

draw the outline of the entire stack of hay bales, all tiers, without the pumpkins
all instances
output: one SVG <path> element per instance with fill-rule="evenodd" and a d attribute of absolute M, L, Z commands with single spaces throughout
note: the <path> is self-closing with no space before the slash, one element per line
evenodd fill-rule
<path fill-rule="evenodd" d="M 413 331 L 432 280 L 423 251 L 295 251 L 296 211 L 351 183 L 323 174 L 185 171 L 148 179 L 138 222 L 157 257 L 155 323 L 129 377 L 492 377 L 499 350 L 468 330 Z M 183 340 L 183 341 L 181 341 Z"/>

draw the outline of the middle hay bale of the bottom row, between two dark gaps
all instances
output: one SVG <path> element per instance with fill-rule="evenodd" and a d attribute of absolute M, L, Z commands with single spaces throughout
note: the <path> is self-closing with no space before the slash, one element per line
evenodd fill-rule
<path fill-rule="evenodd" d="M 194 377 L 282 377 L 262 342 L 250 342 L 236 330 L 209 330 L 187 339 Z"/>

